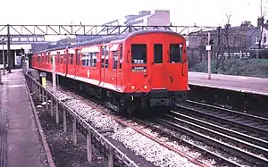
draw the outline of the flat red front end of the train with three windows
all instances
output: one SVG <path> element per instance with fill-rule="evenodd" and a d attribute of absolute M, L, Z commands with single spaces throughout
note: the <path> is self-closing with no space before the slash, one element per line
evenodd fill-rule
<path fill-rule="evenodd" d="M 172 106 L 188 91 L 186 40 L 172 32 L 130 38 L 127 92 L 135 104 Z M 127 47 L 128 48 L 128 47 Z"/>

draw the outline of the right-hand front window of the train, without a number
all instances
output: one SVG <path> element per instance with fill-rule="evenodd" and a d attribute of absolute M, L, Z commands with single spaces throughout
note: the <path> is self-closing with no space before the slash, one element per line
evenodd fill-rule
<path fill-rule="evenodd" d="M 170 45 L 170 63 L 181 63 L 182 44 Z"/>

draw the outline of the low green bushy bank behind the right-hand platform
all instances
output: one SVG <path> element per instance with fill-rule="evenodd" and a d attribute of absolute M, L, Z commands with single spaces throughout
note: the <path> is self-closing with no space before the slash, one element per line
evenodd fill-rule
<path fill-rule="evenodd" d="M 212 73 L 216 73 L 215 62 L 212 62 Z M 207 72 L 207 61 L 195 64 L 190 71 Z M 268 78 L 267 59 L 227 59 L 220 63 L 218 73 Z"/>

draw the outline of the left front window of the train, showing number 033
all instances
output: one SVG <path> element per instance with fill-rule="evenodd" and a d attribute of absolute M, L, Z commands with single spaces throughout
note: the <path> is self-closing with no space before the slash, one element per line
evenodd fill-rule
<path fill-rule="evenodd" d="M 131 55 L 133 64 L 147 63 L 147 45 L 146 44 L 131 45 Z"/>

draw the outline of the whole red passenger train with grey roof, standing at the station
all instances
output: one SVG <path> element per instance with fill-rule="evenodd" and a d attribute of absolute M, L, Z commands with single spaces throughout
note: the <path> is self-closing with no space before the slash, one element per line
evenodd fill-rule
<path fill-rule="evenodd" d="M 186 39 L 167 30 L 142 30 L 33 54 L 32 68 L 104 99 L 116 111 L 172 106 L 188 91 Z"/>

